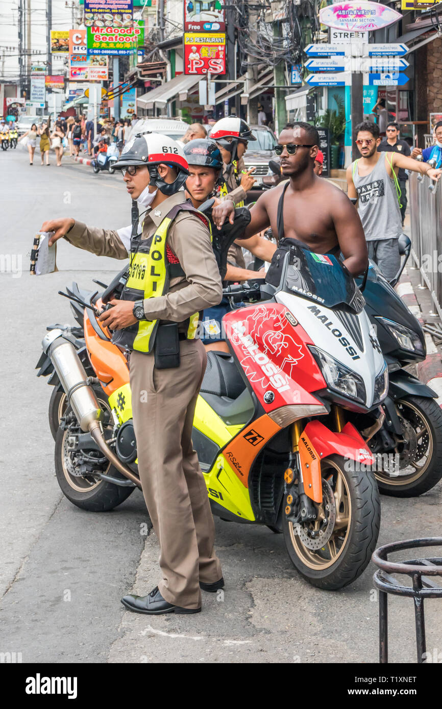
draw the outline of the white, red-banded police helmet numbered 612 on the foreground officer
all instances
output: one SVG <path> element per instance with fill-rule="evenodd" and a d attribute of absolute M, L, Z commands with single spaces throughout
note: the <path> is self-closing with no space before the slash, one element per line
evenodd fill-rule
<path fill-rule="evenodd" d="M 157 167 L 160 163 L 177 169 L 178 174 L 174 182 L 165 182 L 160 177 Z M 175 194 L 181 189 L 189 175 L 189 164 L 181 145 L 178 145 L 168 135 L 160 133 L 143 133 L 135 135 L 129 140 L 113 167 L 118 170 L 129 167 L 129 165 L 147 165 L 150 184 L 158 187 L 167 196 Z"/>

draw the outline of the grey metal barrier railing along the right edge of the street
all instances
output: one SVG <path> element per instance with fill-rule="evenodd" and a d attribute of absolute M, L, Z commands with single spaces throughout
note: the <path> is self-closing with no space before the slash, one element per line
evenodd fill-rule
<path fill-rule="evenodd" d="M 442 318 L 442 188 L 426 175 L 409 175 L 411 257 Z M 441 249 L 441 251 L 439 251 Z M 441 259 L 439 262 L 439 254 Z"/>

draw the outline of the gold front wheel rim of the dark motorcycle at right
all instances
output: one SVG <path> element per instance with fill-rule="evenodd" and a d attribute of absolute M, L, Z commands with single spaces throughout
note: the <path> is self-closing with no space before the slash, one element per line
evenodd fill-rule
<path fill-rule="evenodd" d="M 397 415 L 405 428 L 405 445 L 397 441 L 394 448 L 394 453 L 399 455 L 399 471 L 394 470 L 393 474 L 377 469 L 374 471 L 375 478 L 389 486 L 402 486 L 419 480 L 429 467 L 433 456 L 433 436 L 424 413 L 414 404 L 402 399 L 397 401 L 396 408 Z M 410 409 L 411 413 L 404 411 L 406 408 Z M 410 458 L 408 465 L 407 458 Z M 402 464 L 406 464 L 404 468 Z"/>

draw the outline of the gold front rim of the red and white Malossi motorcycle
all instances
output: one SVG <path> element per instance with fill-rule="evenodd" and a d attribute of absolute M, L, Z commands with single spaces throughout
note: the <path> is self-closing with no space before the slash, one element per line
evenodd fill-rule
<path fill-rule="evenodd" d="M 334 470 L 330 471 L 330 468 Z M 299 534 L 294 528 L 296 525 L 291 522 L 288 523 L 290 540 L 292 541 L 294 552 L 297 554 L 297 557 L 301 559 L 303 564 L 315 571 L 328 569 L 329 566 L 332 566 L 341 556 L 348 541 L 348 530 L 351 520 L 350 491 L 341 467 L 333 460 L 327 459 L 322 462 L 321 469 L 323 478 L 328 482 L 328 488 L 333 491 L 336 506 L 336 520 L 330 538 L 324 547 L 309 549 L 302 543 Z M 318 519 L 314 520 L 313 523 L 307 523 L 304 527 L 307 526 L 315 532 L 319 530 L 321 520 L 324 520 L 326 514 L 328 515 L 330 513 L 330 510 L 325 509 L 325 505 L 326 496 L 324 495 L 323 486 L 323 501 L 321 505 L 318 506 Z"/>

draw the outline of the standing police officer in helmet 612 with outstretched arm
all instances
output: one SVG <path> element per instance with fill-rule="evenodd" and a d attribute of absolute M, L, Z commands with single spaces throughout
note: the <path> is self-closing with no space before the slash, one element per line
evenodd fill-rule
<path fill-rule="evenodd" d="M 206 368 L 196 337 L 199 311 L 221 301 L 221 277 L 206 218 L 182 189 L 188 175 L 182 147 L 165 135 L 137 136 L 114 167 L 123 170 L 133 200 L 150 185 L 142 235 L 123 242 L 116 231 L 73 219 L 46 222 L 43 229 L 55 232 L 52 242 L 64 236 L 96 255 L 131 255 L 121 299 L 112 300 L 100 319 L 114 331 L 114 342 L 131 349 L 138 470 L 160 542 L 162 578 L 148 596 L 128 595 L 122 603 L 136 613 L 198 613 L 200 589 L 223 588 L 214 520 L 191 438 Z"/>

